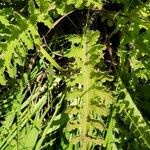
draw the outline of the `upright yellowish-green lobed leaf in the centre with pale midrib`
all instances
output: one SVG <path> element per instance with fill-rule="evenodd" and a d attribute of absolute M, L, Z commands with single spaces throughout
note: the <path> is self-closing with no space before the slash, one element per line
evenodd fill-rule
<path fill-rule="evenodd" d="M 105 119 L 109 115 L 112 103 L 111 92 L 103 86 L 106 80 L 111 80 L 105 71 L 100 71 L 105 46 L 98 44 L 98 31 L 87 30 L 82 36 L 73 35 L 69 38 L 71 48 L 65 55 L 74 58 L 76 73 L 67 80 L 70 90 L 67 92 L 68 106 L 66 113 L 70 121 L 66 126 L 70 134 L 70 145 L 81 144 L 81 149 L 89 149 L 94 145 L 104 144 L 106 131 Z M 100 66 L 98 66 L 100 65 Z"/>

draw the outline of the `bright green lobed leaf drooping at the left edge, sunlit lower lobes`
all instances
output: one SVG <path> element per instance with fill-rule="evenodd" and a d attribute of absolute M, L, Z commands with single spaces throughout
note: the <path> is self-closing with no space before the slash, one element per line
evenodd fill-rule
<path fill-rule="evenodd" d="M 31 38 L 30 22 L 22 17 L 17 12 L 6 15 L 10 9 L 4 9 L 0 12 L 1 24 L 3 26 L 0 36 L 3 39 L 0 42 L 1 51 L 1 80 L 0 84 L 6 84 L 4 71 L 6 70 L 10 77 L 14 78 L 17 72 L 17 65 L 24 65 L 24 59 L 26 56 L 27 49 L 33 47 L 33 40 Z M 5 14 L 5 16 L 3 15 Z M 12 15 L 12 19 L 9 20 L 7 16 Z M 15 22 L 15 24 L 13 23 Z M 9 36 L 6 36 L 9 33 Z M 4 36 L 5 35 L 5 36 Z"/>

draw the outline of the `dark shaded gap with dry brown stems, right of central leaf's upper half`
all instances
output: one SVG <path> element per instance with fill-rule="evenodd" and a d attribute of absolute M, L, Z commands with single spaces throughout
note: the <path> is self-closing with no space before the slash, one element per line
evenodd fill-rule
<path fill-rule="evenodd" d="M 110 25 L 109 22 L 112 22 Z M 105 64 L 110 74 L 114 74 L 117 69 L 118 57 L 117 48 L 120 44 L 120 31 L 115 31 L 116 20 L 113 20 L 110 16 L 103 20 L 103 14 L 95 17 L 95 20 L 91 26 L 94 30 L 100 31 L 100 41 L 106 45 L 107 49 L 104 51 Z M 114 32 L 114 33 L 113 33 Z"/>

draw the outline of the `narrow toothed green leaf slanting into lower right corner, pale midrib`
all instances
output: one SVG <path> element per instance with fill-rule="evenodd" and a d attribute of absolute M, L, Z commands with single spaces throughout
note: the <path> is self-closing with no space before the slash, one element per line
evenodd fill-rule
<path fill-rule="evenodd" d="M 127 91 L 125 93 L 124 101 L 120 101 L 119 103 L 120 113 L 123 113 L 125 121 L 130 123 L 130 130 L 135 137 L 142 140 L 150 148 L 150 127 L 137 109 L 129 93 Z"/>

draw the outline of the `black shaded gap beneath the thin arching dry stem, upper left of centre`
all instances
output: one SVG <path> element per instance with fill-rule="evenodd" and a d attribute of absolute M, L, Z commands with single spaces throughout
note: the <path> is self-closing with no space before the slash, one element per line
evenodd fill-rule
<path fill-rule="evenodd" d="M 47 41 L 67 34 L 81 34 L 86 21 L 86 13 L 87 10 L 75 10 L 66 17 L 59 18 L 60 21 L 52 29 L 44 26 L 43 23 L 38 23 L 39 33 L 41 37 L 46 35 Z"/>

